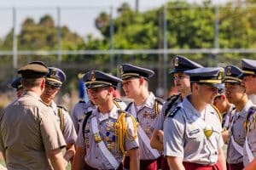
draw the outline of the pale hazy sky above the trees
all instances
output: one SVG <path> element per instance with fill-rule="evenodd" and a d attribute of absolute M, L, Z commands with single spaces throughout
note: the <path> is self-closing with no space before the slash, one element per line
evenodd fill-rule
<path fill-rule="evenodd" d="M 201 3 L 202 0 L 188 0 L 189 2 Z M 212 0 L 213 3 L 220 3 L 226 0 Z M 20 31 L 21 23 L 28 17 L 36 22 L 44 14 L 51 14 L 55 20 L 57 18 L 56 8 L 61 8 L 61 26 L 68 26 L 71 31 L 79 33 L 85 37 L 93 34 L 100 37 L 96 30 L 94 20 L 102 11 L 110 13 L 113 7 L 113 15 L 116 8 L 122 3 L 129 3 L 131 8 L 135 8 L 136 0 L 0 0 L 0 37 L 6 36 L 13 26 L 12 8 L 15 7 L 17 14 L 17 30 Z M 139 0 L 140 11 L 150 8 L 157 8 L 167 0 Z"/>

